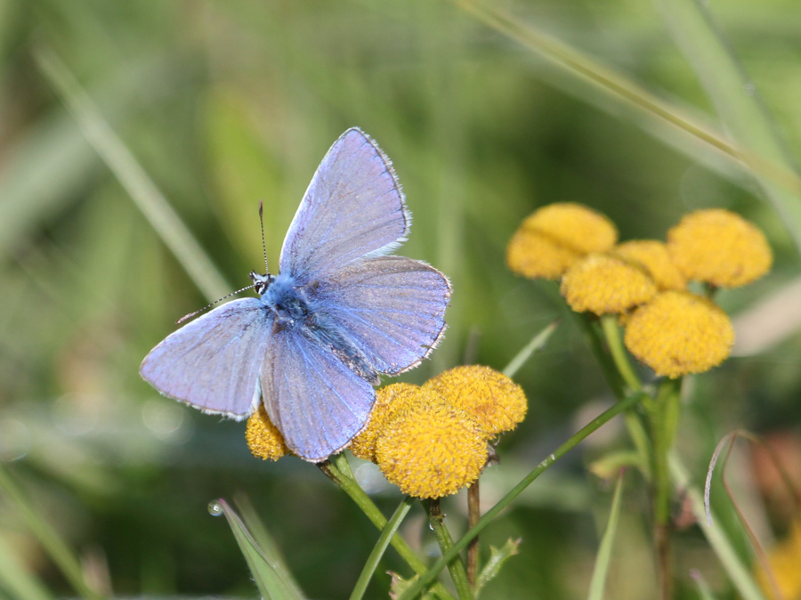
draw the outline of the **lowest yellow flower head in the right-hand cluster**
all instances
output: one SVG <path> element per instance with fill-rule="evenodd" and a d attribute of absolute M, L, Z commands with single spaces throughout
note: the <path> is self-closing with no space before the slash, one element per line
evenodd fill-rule
<path fill-rule="evenodd" d="M 631 315 L 624 343 L 657 375 L 675 378 L 723 362 L 732 349 L 734 329 L 708 298 L 667 291 Z"/>

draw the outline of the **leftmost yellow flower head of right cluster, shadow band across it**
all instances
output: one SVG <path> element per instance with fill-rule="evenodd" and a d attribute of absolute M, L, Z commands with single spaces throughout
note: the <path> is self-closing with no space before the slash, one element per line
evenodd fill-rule
<path fill-rule="evenodd" d="M 618 231 L 604 215 L 572 202 L 542 207 L 529 215 L 506 247 L 513 272 L 557 280 L 570 264 L 590 252 L 606 252 Z"/>

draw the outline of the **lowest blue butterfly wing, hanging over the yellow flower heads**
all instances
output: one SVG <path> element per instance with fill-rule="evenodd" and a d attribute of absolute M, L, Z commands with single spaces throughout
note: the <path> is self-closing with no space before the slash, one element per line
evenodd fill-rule
<path fill-rule="evenodd" d="M 368 421 L 373 387 L 297 328 L 272 335 L 261 371 L 264 408 L 287 446 L 320 462 L 342 450 Z"/>

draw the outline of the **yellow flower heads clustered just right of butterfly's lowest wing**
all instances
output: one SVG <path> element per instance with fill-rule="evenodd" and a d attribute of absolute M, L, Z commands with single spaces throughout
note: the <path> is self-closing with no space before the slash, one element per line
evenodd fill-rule
<path fill-rule="evenodd" d="M 455 494 L 478 479 L 487 442 L 525 417 L 519 385 L 489 367 L 457 367 L 425 385 L 376 392 L 370 423 L 351 443 L 389 482 L 417 498 Z"/>

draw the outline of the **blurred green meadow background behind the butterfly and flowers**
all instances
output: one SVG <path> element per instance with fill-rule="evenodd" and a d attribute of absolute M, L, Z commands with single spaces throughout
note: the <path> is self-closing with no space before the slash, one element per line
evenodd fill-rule
<path fill-rule="evenodd" d="M 516 22 L 618 69 L 700 122 L 731 129 L 655 4 L 504 4 Z M 751 77 L 748 95 L 756 91 L 798 156 L 797 3 L 721 0 L 711 8 Z M 198 289 L 86 141 L 43 69 L 43 57 L 53 56 L 224 283 L 205 295 Z M 516 377 L 530 414 L 501 441 L 501 464 L 482 480 L 487 506 L 611 402 L 556 288 L 506 270 L 506 241 L 536 207 L 582 202 L 609 215 L 621 239 L 664 239 L 700 207 L 739 212 L 766 232 L 776 261 L 763 280 L 719 299 L 735 319 L 756 318 L 756 330 L 771 314 L 754 317 L 754 307 L 798 276 L 798 231 L 748 174 L 454 4 L 0 1 L 0 458 L 116 595 L 254 596 L 231 531 L 206 511 L 210 500 L 237 494 L 253 502 L 309 597 L 346 597 L 358 577 L 377 533 L 315 466 L 252 458 L 244 424 L 162 398 L 138 375 L 175 320 L 205 305 L 212 290 L 243 287 L 250 269 L 262 270 L 260 199 L 268 259 L 277 264 L 314 169 L 349 126 L 376 139 L 404 186 L 414 223 L 401 254 L 453 282 L 447 339 L 405 380 L 420 383 L 465 357 L 502 369 L 562 319 Z M 781 433 L 795 449 L 789 456 L 801 454 L 799 305 L 790 296 L 785 335 L 692 382 L 679 448 L 696 479 L 717 440 L 737 426 Z M 611 497 L 586 466 L 626 443 L 618 422 L 605 426 L 482 535 L 495 545 L 522 538 L 521 554 L 486 597 L 586 596 Z M 735 458 L 735 488 L 770 542 L 787 527 L 786 499 L 756 481 L 748 450 Z M 630 486 L 624 499 L 609 597 L 655 595 L 643 490 Z M 375 494 L 387 513 L 399 499 L 380 482 Z M 716 502 L 750 560 L 731 507 Z M 455 531 L 465 529 L 464 505 L 461 495 L 444 505 Z M 422 511 L 402 531 L 422 554 L 434 551 Z M 54 595 L 71 594 L 2 495 L 0 544 Z M 392 550 L 384 567 L 409 575 Z M 734 597 L 691 526 L 676 540 L 680 597 L 697 597 L 692 568 L 718 597 Z M 385 597 L 388 586 L 379 574 L 368 594 Z"/>

